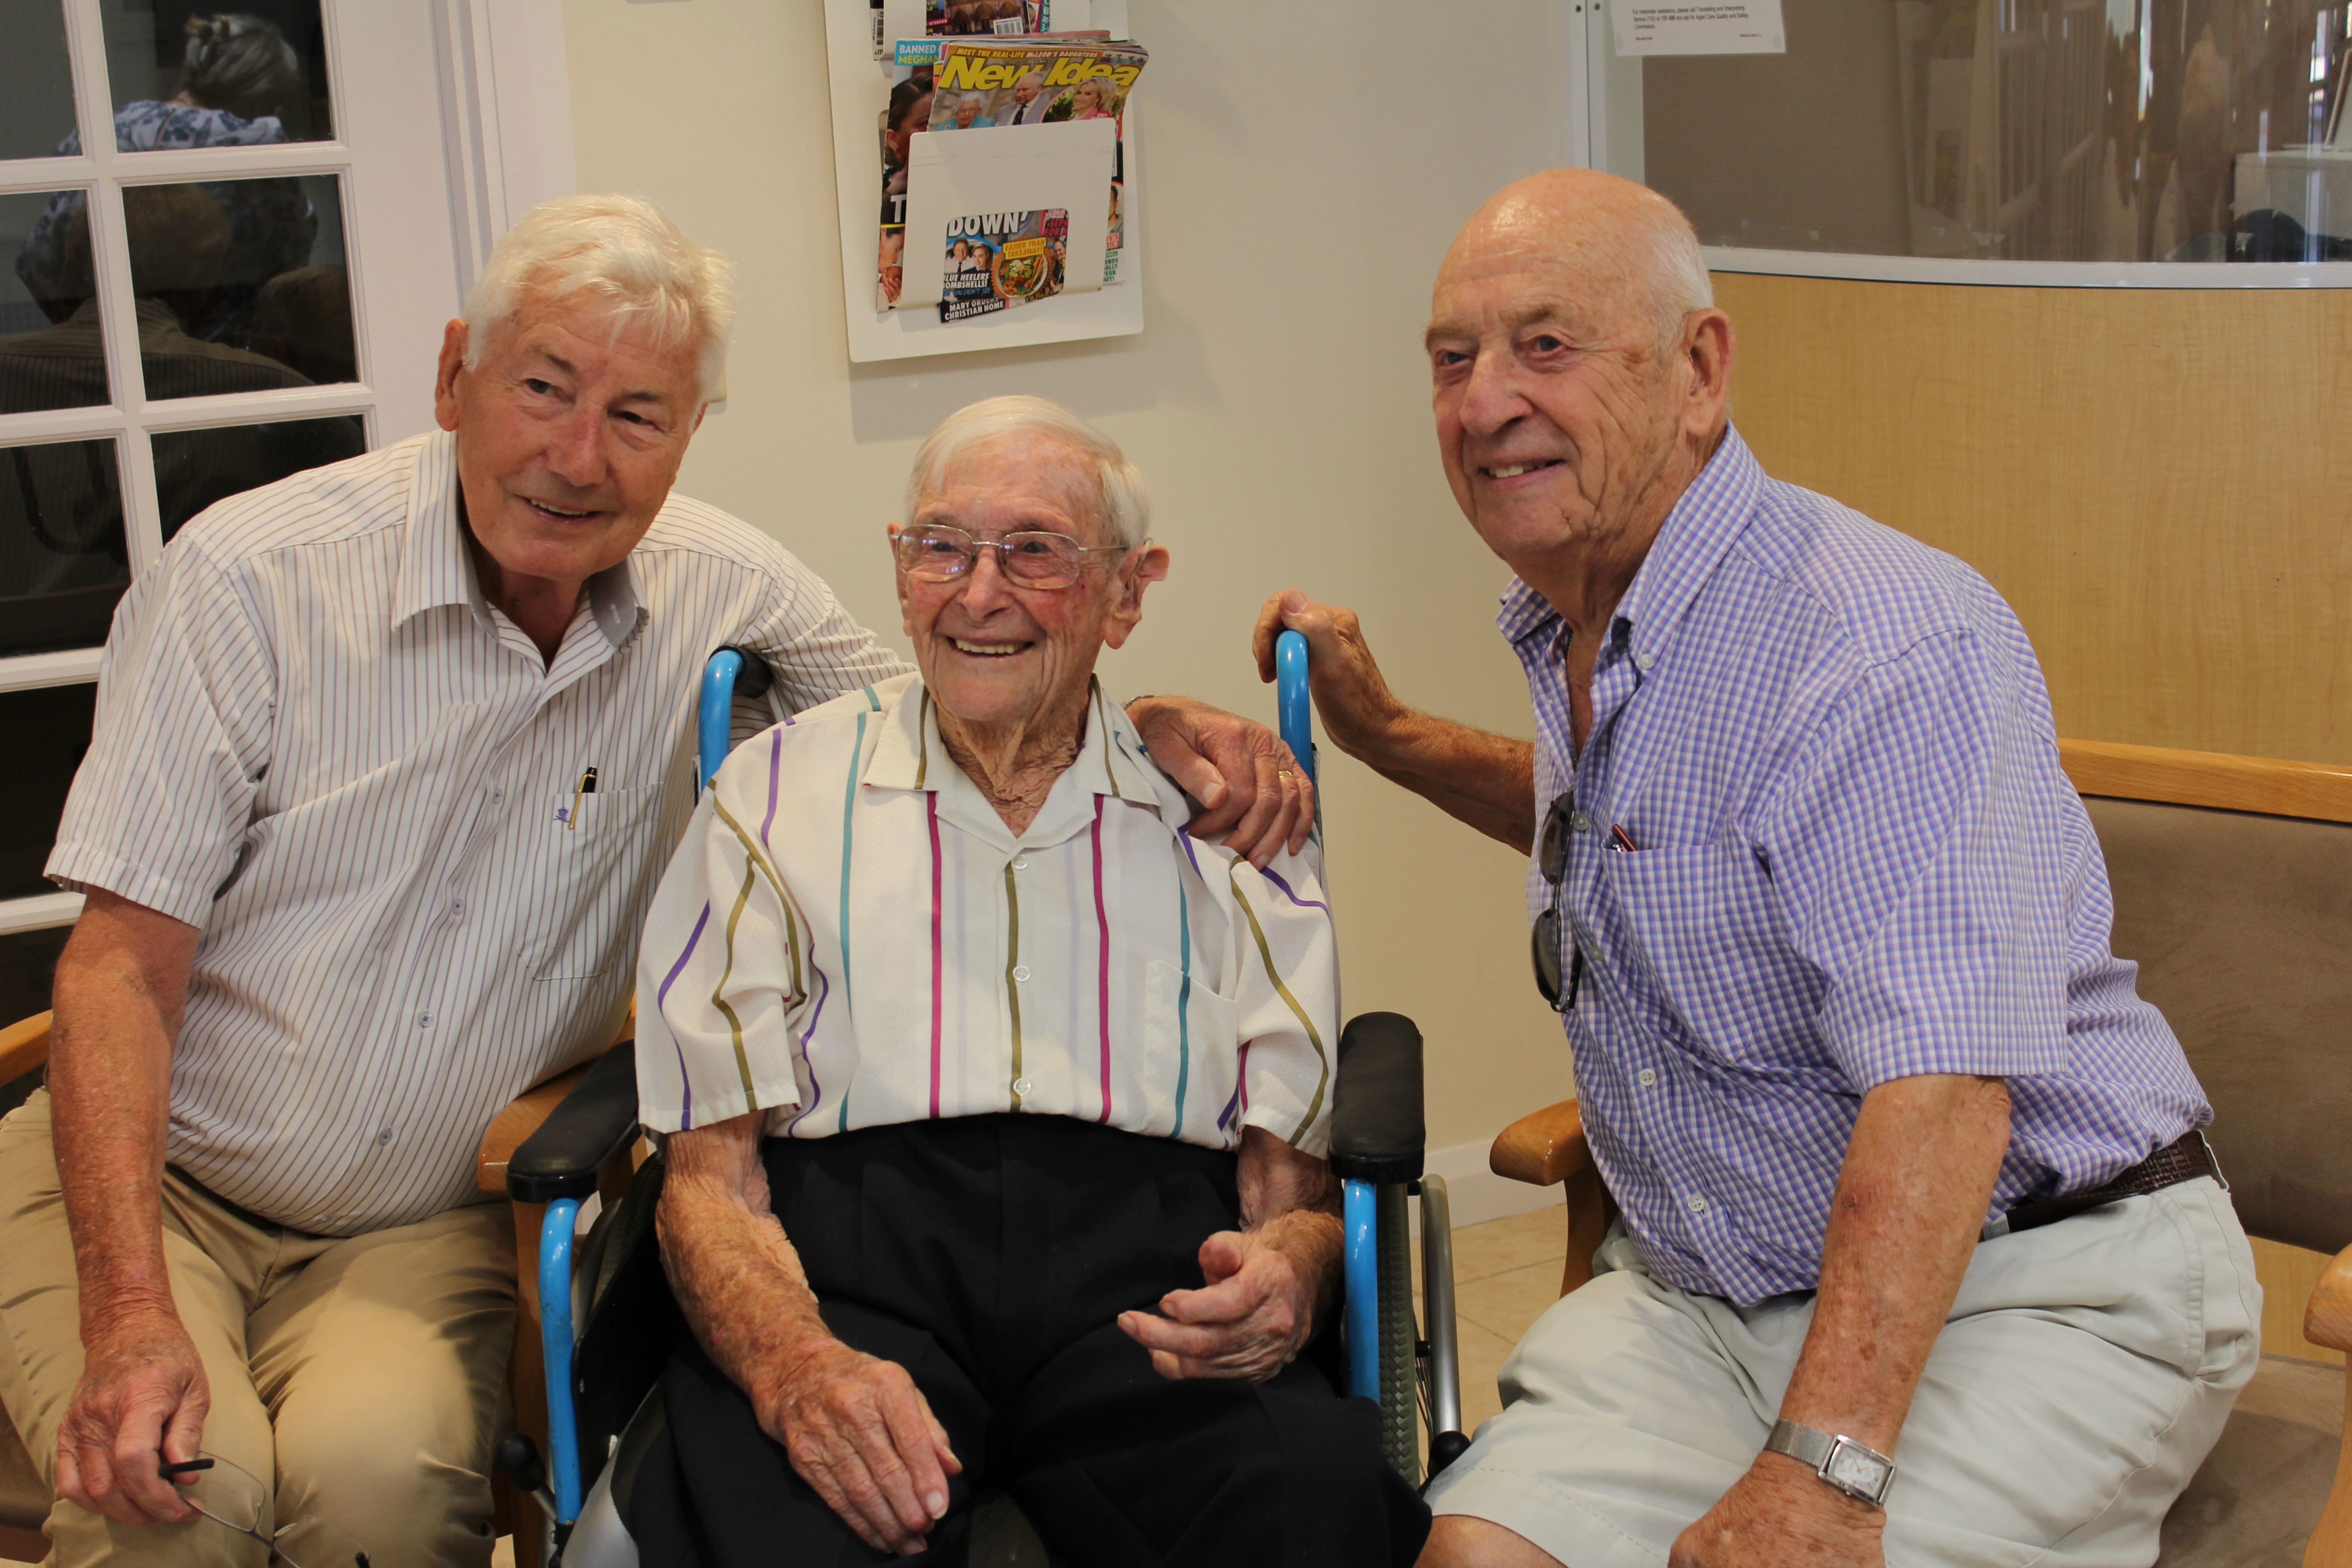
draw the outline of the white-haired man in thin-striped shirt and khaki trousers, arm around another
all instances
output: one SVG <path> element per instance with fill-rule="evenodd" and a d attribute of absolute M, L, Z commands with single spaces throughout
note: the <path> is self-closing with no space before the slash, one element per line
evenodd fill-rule
<path fill-rule="evenodd" d="M 0 1396 L 56 1563 L 489 1561 L 513 1237 L 473 1150 L 628 1006 L 703 658 L 786 708 L 903 670 L 670 494 L 727 322 L 659 212 L 548 202 L 449 324 L 437 435 L 212 508 L 125 597 L 49 858 L 89 896 L 49 1091 L 0 1124 Z M 1258 726 L 1138 719 L 1223 802 L 1195 827 L 1303 842 Z"/>

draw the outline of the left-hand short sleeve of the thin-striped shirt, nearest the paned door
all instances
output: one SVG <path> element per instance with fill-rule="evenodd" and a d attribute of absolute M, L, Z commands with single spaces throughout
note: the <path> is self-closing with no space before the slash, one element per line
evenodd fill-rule
<path fill-rule="evenodd" d="M 202 926 L 270 762 L 278 670 L 238 581 L 191 538 L 115 609 L 47 875 Z"/>

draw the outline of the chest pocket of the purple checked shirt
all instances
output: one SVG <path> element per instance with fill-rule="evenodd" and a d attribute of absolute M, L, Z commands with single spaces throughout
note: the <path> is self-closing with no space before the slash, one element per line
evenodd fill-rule
<path fill-rule="evenodd" d="M 1689 1044 L 1762 1065 L 1809 1056 L 1820 987 L 1790 950 L 1780 896 L 1745 844 L 1602 853 L 1635 994 L 1653 990 Z M 1646 985 L 1644 985 L 1646 983 Z"/>

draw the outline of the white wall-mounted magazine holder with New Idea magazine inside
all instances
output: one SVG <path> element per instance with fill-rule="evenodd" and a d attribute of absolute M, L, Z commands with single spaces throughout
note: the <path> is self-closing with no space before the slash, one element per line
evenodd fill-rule
<path fill-rule="evenodd" d="M 1056 0 L 1056 26 L 1073 9 Z M 1094 0 L 1094 21 L 1127 28 L 1110 14 L 1124 5 Z M 1077 339 L 1112 339 L 1143 331 L 1143 242 L 1138 212 L 1136 106 L 1124 113 L 1124 214 L 1120 247 L 1120 282 L 1091 292 L 1065 289 L 1011 310 L 943 322 L 929 303 L 877 310 L 875 261 L 880 244 L 880 125 L 889 108 L 894 73 L 875 61 L 875 19 L 898 38 L 920 38 L 920 0 L 887 0 L 877 12 L 868 0 L 826 0 L 826 56 L 833 80 L 833 169 L 842 209 L 842 310 L 849 327 L 849 360 L 908 360 L 915 355 L 976 353 L 983 348 L 1025 348 L 1030 343 L 1070 343 Z M 938 299 L 934 268 L 946 256 L 931 247 L 946 240 L 950 212 L 971 202 L 971 212 L 1068 209 L 1068 277 L 1098 277 L 1103 237 L 1110 221 L 1112 146 L 1103 136 L 1105 120 L 1058 122 L 1035 127 L 995 127 L 985 132 L 920 132 L 913 139 L 908 167 L 908 261 L 917 294 L 901 289 L 901 301 Z M 1091 186 L 1080 195 L 1073 181 Z M 938 235 L 931 244 L 924 237 Z M 1091 261 L 1091 268 L 1089 268 Z"/>

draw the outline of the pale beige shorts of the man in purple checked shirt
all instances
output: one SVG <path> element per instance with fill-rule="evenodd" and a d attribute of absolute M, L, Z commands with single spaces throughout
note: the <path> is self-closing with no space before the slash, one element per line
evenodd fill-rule
<path fill-rule="evenodd" d="M 1595 1262 L 1519 1340 L 1503 1413 L 1428 1500 L 1566 1568 L 1661 1568 L 1771 1434 L 1813 1298 L 1691 1295 L 1623 1229 Z M 1980 1244 L 1893 1453 L 1889 1568 L 2154 1563 L 2253 1378 L 2260 1316 L 2211 1180 Z"/>

